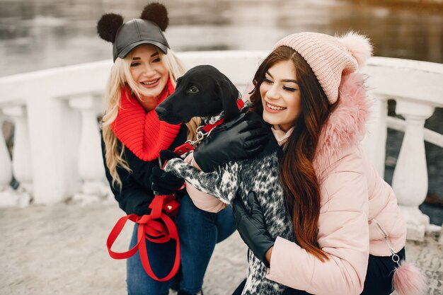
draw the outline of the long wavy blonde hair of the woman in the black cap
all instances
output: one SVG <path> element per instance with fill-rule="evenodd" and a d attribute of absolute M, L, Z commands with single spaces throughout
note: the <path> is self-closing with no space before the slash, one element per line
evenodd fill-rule
<path fill-rule="evenodd" d="M 110 71 L 110 77 L 108 84 L 105 88 L 105 115 L 102 119 L 102 134 L 103 141 L 105 142 L 105 159 L 106 166 L 108 166 L 109 173 L 111 175 L 113 187 L 118 185 L 120 190 L 122 188 L 122 180 L 117 173 L 117 167 L 121 167 L 128 172 L 132 173 L 130 166 L 128 165 L 123 154 L 125 152 L 125 146 L 119 144 L 117 137 L 115 136 L 111 125 L 115 118 L 117 118 L 118 109 L 121 100 L 121 88 L 129 86 L 135 96 L 141 97 L 144 93 L 144 89 L 137 85 L 132 79 L 130 72 L 130 64 L 132 60 L 133 52 L 127 54 L 123 59 L 117 57 Z M 163 54 L 159 51 L 161 62 L 166 66 L 169 71 L 169 79 L 175 86 L 176 80 L 179 76 L 185 73 L 185 67 L 180 62 L 176 54 L 172 50 L 168 50 L 168 54 Z M 194 117 L 190 122 L 186 123 L 188 127 L 188 139 L 194 140 L 196 137 L 195 129 L 200 125 L 200 118 Z"/>

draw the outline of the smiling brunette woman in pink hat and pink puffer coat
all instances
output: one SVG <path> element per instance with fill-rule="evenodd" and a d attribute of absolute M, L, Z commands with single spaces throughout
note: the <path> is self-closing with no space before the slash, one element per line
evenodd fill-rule
<path fill-rule="evenodd" d="M 234 202 L 234 216 L 270 265 L 266 279 L 292 288 L 287 294 L 420 294 L 420 273 L 400 264 L 406 228 L 396 196 L 359 149 L 370 101 L 357 70 L 371 52 L 356 33 L 297 33 L 255 74 L 251 102 L 283 149 L 282 212 L 297 243 L 269 235 L 255 192 L 251 209 Z"/>

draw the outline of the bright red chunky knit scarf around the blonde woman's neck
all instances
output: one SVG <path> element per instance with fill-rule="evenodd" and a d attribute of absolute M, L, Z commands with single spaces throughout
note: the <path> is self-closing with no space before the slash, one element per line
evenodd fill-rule
<path fill-rule="evenodd" d="M 159 157 L 161 150 L 171 146 L 180 130 L 180 124 L 171 125 L 160 121 L 155 110 L 145 112 L 137 98 L 130 95 L 130 89 L 122 88 L 121 91 L 120 108 L 111 128 L 137 158 L 152 161 Z M 156 106 L 174 91 L 169 79 Z"/>

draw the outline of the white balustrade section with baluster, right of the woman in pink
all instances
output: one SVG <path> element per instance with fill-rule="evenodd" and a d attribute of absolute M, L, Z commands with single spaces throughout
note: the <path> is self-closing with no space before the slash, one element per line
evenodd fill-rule
<path fill-rule="evenodd" d="M 424 125 L 436 107 L 443 108 L 443 65 L 373 57 L 364 71 L 369 74 L 371 93 L 382 101 L 396 100 L 396 113 L 405 117 L 401 124 L 385 116 L 388 127 L 405 131 L 392 187 L 408 224 L 408 239 L 422 241 L 430 224 L 429 216 L 418 209 L 428 185 L 425 133 L 431 134 L 428 137 L 434 144 L 443 146 L 443 135 Z"/>

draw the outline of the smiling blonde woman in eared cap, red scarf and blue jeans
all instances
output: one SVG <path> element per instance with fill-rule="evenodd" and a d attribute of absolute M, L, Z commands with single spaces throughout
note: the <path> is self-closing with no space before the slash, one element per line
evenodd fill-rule
<path fill-rule="evenodd" d="M 159 121 L 154 111 L 173 93 L 176 79 L 184 72 L 163 35 L 167 26 L 167 11 L 161 4 L 147 5 L 141 18 L 127 23 L 123 23 L 122 16 L 108 13 L 97 25 L 100 37 L 113 43 L 114 59 L 105 93 L 103 159 L 115 199 L 127 214 L 149 214 L 155 194 L 170 195 L 183 185 L 182 179 L 159 168 L 159 162 L 164 160 L 159 154 L 192 138 L 197 127 L 196 120 L 186 125 L 169 125 Z M 240 131 L 244 130 L 230 130 L 234 137 Z M 217 148 L 226 149 L 228 144 L 226 141 L 226 146 Z M 207 146 L 213 149 L 210 144 Z M 214 245 L 234 232 L 234 220 L 231 208 L 217 214 L 203 212 L 192 204 L 185 190 L 180 191 L 180 197 L 176 216 L 181 253 L 178 294 L 202 294 L 203 277 Z M 135 243 L 137 224 L 130 248 Z M 175 247 L 173 241 L 146 240 L 157 277 L 165 277 L 171 270 Z M 145 273 L 138 253 L 127 260 L 128 294 L 168 294 L 169 287 L 171 282 L 156 281 Z"/>

